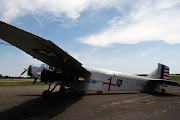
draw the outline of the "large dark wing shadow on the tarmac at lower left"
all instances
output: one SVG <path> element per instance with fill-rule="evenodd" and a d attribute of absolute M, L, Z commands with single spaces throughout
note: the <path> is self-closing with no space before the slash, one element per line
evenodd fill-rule
<path fill-rule="evenodd" d="M 39 97 L 1 112 L 0 120 L 51 119 L 82 99 L 84 94 L 85 91 L 74 90 L 65 94 L 53 93 L 49 100 Z"/>

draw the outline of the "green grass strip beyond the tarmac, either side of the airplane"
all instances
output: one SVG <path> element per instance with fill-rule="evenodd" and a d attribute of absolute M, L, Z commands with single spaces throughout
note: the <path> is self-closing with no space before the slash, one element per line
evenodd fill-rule
<path fill-rule="evenodd" d="M 170 80 L 180 81 L 180 75 L 171 75 Z M 3 86 L 32 86 L 47 85 L 44 82 L 37 81 L 33 84 L 34 79 L 0 79 L 0 87 Z"/>

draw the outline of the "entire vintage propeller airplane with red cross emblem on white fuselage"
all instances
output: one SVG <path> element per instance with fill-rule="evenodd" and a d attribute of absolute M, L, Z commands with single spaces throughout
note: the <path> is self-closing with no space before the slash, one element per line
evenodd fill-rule
<path fill-rule="evenodd" d="M 35 78 L 33 83 L 37 79 L 49 83 L 48 90 L 42 94 L 44 98 L 50 97 L 57 85 L 61 86 L 60 92 L 66 91 L 64 86 L 94 91 L 144 92 L 154 90 L 165 92 L 166 85 L 180 86 L 179 83 L 169 80 L 169 67 L 160 63 L 158 68 L 147 77 L 84 68 L 80 62 L 51 41 L 1 21 L 0 38 L 47 64 L 41 67 L 30 65 L 28 70 L 25 70 L 29 76 Z M 50 90 L 51 83 L 55 83 L 52 90 Z"/>

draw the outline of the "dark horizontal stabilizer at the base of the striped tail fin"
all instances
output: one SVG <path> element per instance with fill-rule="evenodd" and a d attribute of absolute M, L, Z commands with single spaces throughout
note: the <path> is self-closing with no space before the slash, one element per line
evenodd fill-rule
<path fill-rule="evenodd" d="M 152 82 L 156 81 L 159 84 L 165 84 L 165 85 L 172 85 L 172 86 L 180 86 L 178 82 L 171 81 L 171 80 L 164 80 L 164 79 L 154 79 L 150 80 Z"/>

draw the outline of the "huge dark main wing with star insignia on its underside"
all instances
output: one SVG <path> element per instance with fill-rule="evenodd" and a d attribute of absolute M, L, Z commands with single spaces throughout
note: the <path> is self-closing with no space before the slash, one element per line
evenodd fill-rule
<path fill-rule="evenodd" d="M 0 38 L 34 58 L 66 72 L 90 75 L 82 64 L 53 42 L 0 21 Z"/>

